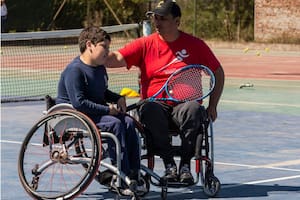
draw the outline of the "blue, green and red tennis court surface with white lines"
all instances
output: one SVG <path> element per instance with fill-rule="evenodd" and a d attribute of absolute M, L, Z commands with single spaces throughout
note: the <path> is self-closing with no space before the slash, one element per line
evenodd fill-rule
<path fill-rule="evenodd" d="M 222 183 L 218 199 L 299 199 L 299 51 L 257 56 L 256 50 L 214 50 L 227 77 L 214 124 L 215 175 Z M 18 180 L 18 151 L 44 109 L 40 101 L 1 106 L 1 199 L 29 199 Z M 156 169 L 163 174 L 159 159 Z M 78 199 L 114 195 L 93 182 Z M 160 189 L 151 186 L 145 199 L 160 199 Z M 207 197 L 199 183 L 169 189 L 168 199 Z"/>

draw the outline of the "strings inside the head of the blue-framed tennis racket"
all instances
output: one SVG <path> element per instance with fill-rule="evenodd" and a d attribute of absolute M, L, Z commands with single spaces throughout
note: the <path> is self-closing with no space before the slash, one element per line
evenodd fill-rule
<path fill-rule="evenodd" d="M 180 101 L 192 101 L 203 96 L 203 76 L 200 68 L 189 68 L 174 75 L 168 82 L 168 95 Z"/>

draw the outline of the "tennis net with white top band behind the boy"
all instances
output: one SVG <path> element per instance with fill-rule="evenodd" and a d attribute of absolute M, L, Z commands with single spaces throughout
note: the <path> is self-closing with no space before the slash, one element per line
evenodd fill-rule
<path fill-rule="evenodd" d="M 139 37 L 139 24 L 102 27 L 117 50 Z M 1 34 L 1 103 L 56 96 L 60 73 L 79 55 L 82 29 Z M 107 69 L 109 89 L 138 89 L 138 70 Z"/>

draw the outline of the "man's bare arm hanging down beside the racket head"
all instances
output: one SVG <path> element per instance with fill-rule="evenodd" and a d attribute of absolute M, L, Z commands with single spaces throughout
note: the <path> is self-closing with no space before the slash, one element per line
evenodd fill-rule
<path fill-rule="evenodd" d="M 211 117 L 213 121 L 216 120 L 217 118 L 217 105 L 220 100 L 220 97 L 223 92 L 223 87 L 224 87 L 224 71 L 222 66 L 220 66 L 215 72 L 215 79 L 216 79 L 216 84 L 213 92 L 210 94 L 209 97 L 209 105 L 207 107 L 207 113 L 208 116 Z"/>

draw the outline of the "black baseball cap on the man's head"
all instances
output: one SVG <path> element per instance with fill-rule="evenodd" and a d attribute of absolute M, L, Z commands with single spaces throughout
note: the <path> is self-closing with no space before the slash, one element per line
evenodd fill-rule
<path fill-rule="evenodd" d="M 175 0 L 165 0 L 160 1 L 153 11 L 148 11 L 146 13 L 147 16 L 153 14 L 160 16 L 171 14 L 173 15 L 173 17 L 181 17 L 181 10 L 180 7 L 176 4 Z"/>

